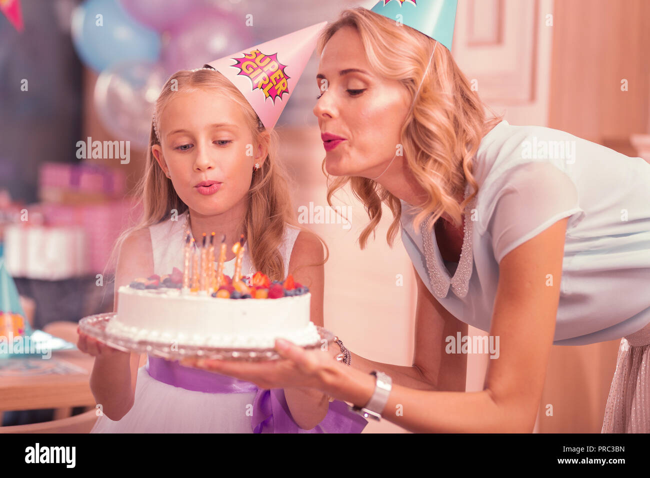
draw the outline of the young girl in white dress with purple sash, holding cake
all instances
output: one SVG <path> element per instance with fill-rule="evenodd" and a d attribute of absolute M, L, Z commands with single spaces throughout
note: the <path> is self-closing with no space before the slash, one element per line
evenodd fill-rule
<path fill-rule="evenodd" d="M 121 241 L 115 310 L 120 285 L 181 269 L 190 229 L 195 239 L 226 235 L 227 244 L 244 234 L 242 275 L 292 274 L 309 287 L 311 320 L 322 326 L 326 259 L 320 238 L 294 219 L 269 131 L 274 120 L 265 127 L 242 91 L 214 68 L 172 75 L 155 112 L 140 183 L 144 217 Z M 224 274 L 231 276 L 235 257 L 228 254 Z M 366 423 L 316 390 L 259 390 L 152 356 L 138 369 L 139 354 L 83 335 L 79 349 L 96 357 L 90 386 L 103 416 L 92 432 L 360 432 Z M 341 349 L 329 349 L 336 362 Z"/>

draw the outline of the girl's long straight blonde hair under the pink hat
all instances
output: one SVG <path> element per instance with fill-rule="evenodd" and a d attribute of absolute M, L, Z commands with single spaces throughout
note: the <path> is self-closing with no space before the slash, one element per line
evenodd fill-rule
<path fill-rule="evenodd" d="M 252 131 L 255 146 L 259 144 L 261 135 L 266 133 L 265 127 L 255 114 L 250 103 L 246 101 L 246 98 L 235 85 L 221 73 L 207 68 L 194 71 L 181 70 L 174 73 L 167 80 L 155 103 L 155 114 L 149 133 L 149 148 L 146 154 L 144 176 L 142 176 L 136 187 L 135 194 L 136 197 L 140 198 L 143 209 L 142 217 L 138 224 L 120 235 L 114 252 L 119 250 L 123 241 L 132 232 L 170 219 L 173 209 L 177 211 L 178 215 L 188 210 L 187 205 L 176 194 L 171 179 L 166 177 L 155 157 L 153 157 L 151 148 L 155 144 L 160 144 L 156 134 L 156 131 L 160 131 L 159 118 L 166 105 L 172 100 L 173 95 L 178 92 L 188 93 L 206 89 L 214 90 L 215 94 L 226 96 L 226 98 L 235 101 L 242 108 L 248 126 Z M 154 121 L 156 124 L 154 124 Z M 248 191 L 248 207 L 246 216 L 243 219 L 242 229 L 246 235 L 246 247 L 255 270 L 263 272 L 271 280 L 283 280 L 285 274 L 284 261 L 279 246 L 283 240 L 285 224 L 291 224 L 304 231 L 307 231 L 307 229 L 300 226 L 296 220 L 289 192 L 289 176 L 284 165 L 276 159 L 277 134 L 272 130 L 268 131 L 268 135 L 268 155 L 261 167 L 253 172 L 250 190 Z M 329 250 L 324 241 L 320 237 L 318 239 L 325 246 L 327 255 L 323 262 L 315 265 L 322 265 L 328 260 Z M 183 245 L 180 243 L 170 245 L 170 247 L 175 246 L 180 249 Z"/>

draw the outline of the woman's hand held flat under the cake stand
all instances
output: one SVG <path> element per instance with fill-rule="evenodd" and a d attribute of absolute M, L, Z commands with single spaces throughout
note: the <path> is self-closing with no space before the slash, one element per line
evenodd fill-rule
<path fill-rule="evenodd" d="M 276 339 L 276 351 L 282 358 L 268 362 L 185 358 L 180 363 L 186 367 L 196 367 L 246 380 L 265 390 L 317 388 L 324 392 L 328 392 L 327 379 L 333 375 L 335 367 L 341 366 L 335 360 L 340 349 L 333 343 L 326 351 L 307 351 L 289 341 Z"/>

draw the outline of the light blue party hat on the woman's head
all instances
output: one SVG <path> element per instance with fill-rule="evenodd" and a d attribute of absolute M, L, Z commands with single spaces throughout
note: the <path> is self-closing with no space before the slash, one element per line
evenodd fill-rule
<path fill-rule="evenodd" d="M 458 0 L 379 0 L 371 11 L 400 20 L 451 51 L 457 5 Z"/>

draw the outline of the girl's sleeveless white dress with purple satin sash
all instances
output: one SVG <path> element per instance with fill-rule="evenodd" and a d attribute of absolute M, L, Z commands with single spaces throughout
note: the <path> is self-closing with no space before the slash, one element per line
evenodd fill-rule
<path fill-rule="evenodd" d="M 155 274 L 169 274 L 174 267 L 183 270 L 186 215 L 149 228 Z M 287 224 L 280 247 L 285 276 L 289 273 L 289 259 L 298 233 L 298 229 Z M 242 260 L 242 274 L 252 276 L 255 271 L 247 251 Z M 224 264 L 224 274 L 232 276 L 234 269 L 235 259 Z M 150 371 L 160 380 L 153 378 Z M 228 388 L 229 392 L 200 391 L 213 390 L 216 383 L 220 384 L 219 388 Z M 358 433 L 366 424 L 367 421 L 350 412 L 345 403 L 334 401 L 317 427 L 303 430 L 292 420 L 281 389 L 258 390 L 250 382 L 148 356 L 146 366 L 138 369 L 131 410 L 119 421 L 100 416 L 91 433 Z"/>

